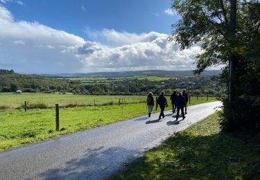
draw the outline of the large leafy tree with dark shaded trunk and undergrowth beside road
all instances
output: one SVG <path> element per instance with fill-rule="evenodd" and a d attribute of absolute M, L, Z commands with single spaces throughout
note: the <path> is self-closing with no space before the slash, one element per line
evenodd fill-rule
<path fill-rule="evenodd" d="M 259 131 L 260 3 L 247 0 L 173 0 L 180 16 L 170 40 L 180 49 L 200 46 L 194 57 L 201 73 L 223 65 L 228 96 L 223 99 L 223 129 Z"/>

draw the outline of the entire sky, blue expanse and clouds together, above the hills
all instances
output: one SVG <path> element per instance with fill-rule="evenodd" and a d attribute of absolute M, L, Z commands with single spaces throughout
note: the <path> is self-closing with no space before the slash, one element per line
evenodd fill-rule
<path fill-rule="evenodd" d="M 0 0 L 0 69 L 192 70 L 199 46 L 168 42 L 171 0 Z"/>

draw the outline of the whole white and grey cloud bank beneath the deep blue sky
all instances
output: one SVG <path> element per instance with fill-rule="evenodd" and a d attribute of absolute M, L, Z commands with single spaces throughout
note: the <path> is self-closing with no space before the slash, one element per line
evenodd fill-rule
<path fill-rule="evenodd" d="M 3 0 L 0 0 L 3 1 Z M 194 69 L 194 46 L 179 51 L 168 35 L 86 30 L 93 41 L 37 22 L 15 21 L 0 6 L 0 67 L 24 73 Z"/>

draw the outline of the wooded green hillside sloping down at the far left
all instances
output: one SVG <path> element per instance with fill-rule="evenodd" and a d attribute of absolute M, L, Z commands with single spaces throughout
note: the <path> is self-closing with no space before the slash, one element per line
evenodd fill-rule
<path fill-rule="evenodd" d="M 40 75 L 22 75 L 13 70 L 0 69 L 0 91 L 2 92 L 14 92 L 17 89 L 27 92 L 49 92 L 66 88 L 67 83 L 64 80 L 43 78 Z"/>

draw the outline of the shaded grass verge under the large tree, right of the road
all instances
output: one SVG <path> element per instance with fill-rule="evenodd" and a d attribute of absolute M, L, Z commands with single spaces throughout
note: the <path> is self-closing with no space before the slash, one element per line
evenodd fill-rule
<path fill-rule="evenodd" d="M 224 134 L 217 118 L 168 138 L 112 179 L 260 179 L 260 134 Z"/>

